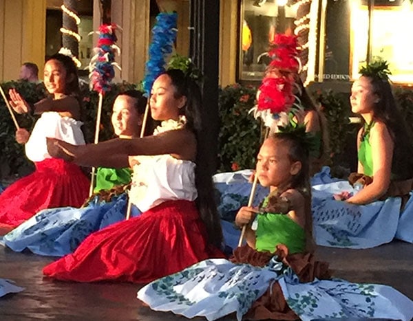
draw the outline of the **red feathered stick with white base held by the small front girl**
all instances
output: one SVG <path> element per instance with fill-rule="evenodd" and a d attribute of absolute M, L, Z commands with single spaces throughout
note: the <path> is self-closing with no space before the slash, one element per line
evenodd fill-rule
<path fill-rule="evenodd" d="M 288 113 L 293 107 L 300 108 L 295 104 L 296 97 L 293 93 L 295 87 L 295 76 L 299 73 L 300 63 L 297 58 L 298 43 L 295 36 L 277 34 L 274 38 L 273 49 L 268 52 L 273 60 L 266 71 L 266 76 L 257 91 L 257 106 L 251 109 L 255 119 L 261 118 L 267 127 L 264 140 L 269 133 L 275 132 L 278 126 L 288 124 L 290 118 Z M 254 176 L 248 206 L 253 205 L 255 190 L 257 188 L 257 175 Z M 242 245 L 246 232 L 246 225 L 242 227 L 238 246 Z"/>

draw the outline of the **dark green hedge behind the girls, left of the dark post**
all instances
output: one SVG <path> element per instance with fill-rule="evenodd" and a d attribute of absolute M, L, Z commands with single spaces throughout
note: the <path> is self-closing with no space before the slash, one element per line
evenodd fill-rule
<path fill-rule="evenodd" d="M 45 98 L 46 92 L 43 84 L 34 84 L 32 82 L 6 82 L 1 84 L 3 90 L 7 93 L 8 89 L 16 88 L 23 98 L 30 104 L 38 102 Z M 113 137 L 112 124 L 110 115 L 112 113 L 112 104 L 119 92 L 128 89 L 135 89 L 136 85 L 123 82 L 112 85 L 103 98 L 102 116 L 100 121 L 99 140 L 108 140 Z M 96 127 L 96 111 L 98 107 L 98 94 L 95 91 L 89 91 L 87 85 L 81 85 L 81 97 L 83 97 L 83 132 L 85 133 L 86 142 L 94 141 L 94 132 Z M 21 128 L 32 131 L 34 123 L 39 118 L 30 114 L 16 115 L 17 122 Z M 5 178 L 10 175 L 22 175 L 34 168 L 32 162 L 25 157 L 24 146 L 18 144 L 14 138 L 16 128 L 12 122 L 10 113 L 6 107 L 3 98 L 0 97 L 0 177 Z"/>

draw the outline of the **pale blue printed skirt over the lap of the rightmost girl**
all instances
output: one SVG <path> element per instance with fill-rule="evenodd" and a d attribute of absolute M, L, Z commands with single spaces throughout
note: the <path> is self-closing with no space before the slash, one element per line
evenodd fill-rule
<path fill-rule="evenodd" d="M 312 187 L 313 234 L 317 245 L 366 249 L 389 243 L 396 235 L 399 197 L 354 205 L 335 201 L 339 192 L 357 192 L 348 181 Z"/>

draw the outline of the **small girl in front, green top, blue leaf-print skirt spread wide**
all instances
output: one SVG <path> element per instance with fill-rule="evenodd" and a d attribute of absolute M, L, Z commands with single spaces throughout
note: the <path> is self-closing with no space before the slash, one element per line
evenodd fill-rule
<path fill-rule="evenodd" d="M 306 145 L 293 133 L 277 133 L 262 145 L 256 170 L 271 193 L 260 208 L 244 207 L 237 213 L 237 225 L 257 218 L 257 228 L 248 227 L 248 245 L 237 247 L 232 262 L 202 261 L 149 283 L 138 298 L 157 311 L 207 320 L 234 312 L 237 320 L 244 315 L 248 320 L 410 320 L 413 302 L 391 287 L 324 280 L 329 278 L 328 266 L 308 252 Z"/>

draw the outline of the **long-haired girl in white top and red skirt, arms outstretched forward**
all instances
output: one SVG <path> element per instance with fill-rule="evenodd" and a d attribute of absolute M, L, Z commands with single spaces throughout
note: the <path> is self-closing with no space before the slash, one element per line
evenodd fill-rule
<path fill-rule="evenodd" d="M 163 121 L 156 135 L 86 146 L 50 141 L 52 155 L 78 164 L 127 166 L 129 155 L 140 155 L 129 157 L 130 198 L 143 213 L 91 234 L 73 254 L 47 265 L 45 275 L 145 283 L 222 256 L 200 98 L 193 80 L 169 70 L 151 91 L 152 118 Z"/>

